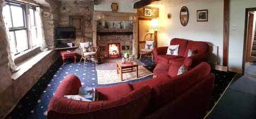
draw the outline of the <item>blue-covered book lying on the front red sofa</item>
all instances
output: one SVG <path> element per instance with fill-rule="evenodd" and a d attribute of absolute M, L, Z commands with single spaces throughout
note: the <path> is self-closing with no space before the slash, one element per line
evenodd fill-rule
<path fill-rule="evenodd" d="M 98 100 L 98 91 L 95 87 L 80 87 L 78 95 L 92 101 Z"/>

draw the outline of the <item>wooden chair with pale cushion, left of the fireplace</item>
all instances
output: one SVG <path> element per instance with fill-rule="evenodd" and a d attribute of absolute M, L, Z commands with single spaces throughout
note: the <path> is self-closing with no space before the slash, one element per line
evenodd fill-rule
<path fill-rule="evenodd" d="M 92 46 L 90 42 L 85 42 L 85 43 L 80 43 L 80 50 L 81 50 L 81 59 L 80 62 L 82 61 L 82 59 L 84 59 L 84 67 L 85 67 L 85 61 L 86 58 L 93 58 L 93 61 L 95 62 L 95 65 L 97 64 L 97 50 L 99 47 L 97 46 Z"/>

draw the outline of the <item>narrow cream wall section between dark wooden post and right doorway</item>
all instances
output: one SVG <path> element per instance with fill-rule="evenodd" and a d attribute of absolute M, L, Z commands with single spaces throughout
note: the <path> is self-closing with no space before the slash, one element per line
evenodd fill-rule
<path fill-rule="evenodd" d="M 230 0 L 229 66 L 242 68 L 245 8 L 251 7 L 256 7 L 255 0 Z"/>

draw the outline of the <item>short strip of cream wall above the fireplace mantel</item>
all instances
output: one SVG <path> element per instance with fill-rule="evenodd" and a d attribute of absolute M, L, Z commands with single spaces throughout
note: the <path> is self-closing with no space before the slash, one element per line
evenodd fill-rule
<path fill-rule="evenodd" d="M 133 8 L 133 2 L 127 2 L 127 1 L 118 1 L 118 0 L 103 0 L 98 1 L 98 5 L 94 5 L 95 11 L 112 11 L 111 9 L 111 3 L 117 3 L 118 10 L 117 12 L 127 12 L 127 13 L 137 13 L 137 9 Z"/>

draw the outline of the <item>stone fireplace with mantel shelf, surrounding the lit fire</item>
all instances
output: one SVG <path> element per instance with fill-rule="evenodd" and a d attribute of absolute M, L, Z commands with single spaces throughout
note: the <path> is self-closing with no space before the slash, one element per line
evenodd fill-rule
<path fill-rule="evenodd" d="M 99 19 L 98 16 L 104 15 L 105 17 Z M 119 57 L 123 57 L 124 47 L 129 48 L 134 58 L 137 58 L 138 53 L 138 40 L 137 40 L 137 21 L 136 13 L 121 13 L 121 12 L 106 12 L 106 11 L 94 11 L 93 12 L 93 45 L 99 46 L 99 54 L 104 58 L 117 57 L 117 55 L 110 55 L 109 44 L 118 44 Z M 130 18 L 133 18 L 132 20 Z M 114 28 L 103 27 L 101 20 L 116 21 L 120 27 Z M 129 21 L 129 25 L 121 26 L 121 22 Z M 120 23 L 120 24 L 118 24 Z M 111 26 L 113 23 L 110 23 Z M 124 24 L 124 23 L 122 23 Z M 113 25 L 114 26 L 114 25 Z"/>

